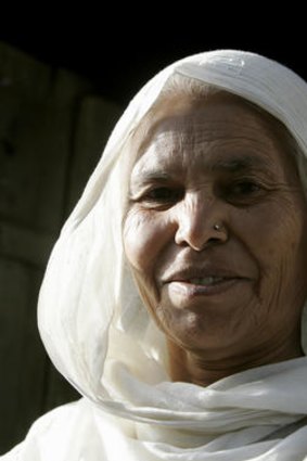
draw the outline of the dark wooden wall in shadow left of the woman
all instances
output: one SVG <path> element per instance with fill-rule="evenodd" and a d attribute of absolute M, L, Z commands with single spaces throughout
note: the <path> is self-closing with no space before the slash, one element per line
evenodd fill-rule
<path fill-rule="evenodd" d="M 78 398 L 36 324 L 48 256 L 121 108 L 89 81 L 0 42 L 0 453 Z"/>

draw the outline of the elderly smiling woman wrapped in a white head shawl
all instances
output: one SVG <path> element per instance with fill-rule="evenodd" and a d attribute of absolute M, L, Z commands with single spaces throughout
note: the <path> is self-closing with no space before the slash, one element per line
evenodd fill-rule
<path fill-rule="evenodd" d="M 247 52 L 137 94 L 40 292 L 84 398 L 4 460 L 307 460 L 306 120 L 306 84 Z"/>

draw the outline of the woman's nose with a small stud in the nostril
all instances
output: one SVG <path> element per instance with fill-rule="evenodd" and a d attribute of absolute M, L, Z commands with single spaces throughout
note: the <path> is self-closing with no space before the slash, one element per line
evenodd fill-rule
<path fill-rule="evenodd" d="M 223 205 L 216 200 L 184 200 L 177 209 L 175 242 L 200 252 L 228 240 Z"/>

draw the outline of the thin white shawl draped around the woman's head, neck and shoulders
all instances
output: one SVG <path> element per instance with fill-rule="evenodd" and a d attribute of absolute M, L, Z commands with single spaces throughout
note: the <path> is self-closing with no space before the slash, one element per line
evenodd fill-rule
<path fill-rule="evenodd" d="M 307 460 L 307 358 L 206 388 L 170 382 L 163 334 L 125 265 L 127 141 L 174 73 L 258 104 L 307 155 L 307 85 L 266 57 L 232 50 L 196 54 L 141 89 L 63 228 L 40 292 L 44 346 L 84 398 L 38 420 L 5 461 Z"/>

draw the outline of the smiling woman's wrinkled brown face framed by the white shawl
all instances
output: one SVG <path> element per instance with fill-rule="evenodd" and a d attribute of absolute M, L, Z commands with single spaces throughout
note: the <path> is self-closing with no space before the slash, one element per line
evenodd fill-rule
<path fill-rule="evenodd" d="M 299 347 L 306 205 L 289 148 L 232 97 L 172 111 L 136 148 L 124 223 L 149 311 L 187 350 Z"/>

